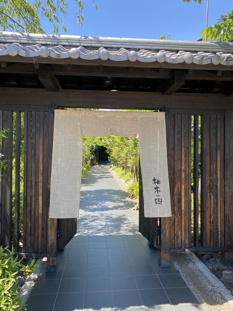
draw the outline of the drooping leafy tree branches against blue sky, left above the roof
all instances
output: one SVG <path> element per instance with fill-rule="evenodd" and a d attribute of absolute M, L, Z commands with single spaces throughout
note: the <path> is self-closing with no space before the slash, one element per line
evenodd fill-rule
<path fill-rule="evenodd" d="M 77 23 L 82 26 L 84 6 L 82 1 L 74 1 L 77 2 Z M 97 9 L 95 0 L 93 5 Z M 53 24 L 54 34 L 58 34 L 60 29 L 66 32 L 62 17 L 66 16 L 67 7 L 64 0 L 35 0 L 34 4 L 26 0 L 0 0 L 0 29 L 43 34 L 40 17 L 45 17 Z"/>

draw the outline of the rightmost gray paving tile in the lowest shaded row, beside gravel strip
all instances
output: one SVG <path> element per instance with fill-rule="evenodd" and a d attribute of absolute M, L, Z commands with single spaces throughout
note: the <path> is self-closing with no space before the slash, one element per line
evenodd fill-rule
<path fill-rule="evenodd" d="M 199 304 L 194 294 L 188 287 L 165 289 L 171 304 Z"/>

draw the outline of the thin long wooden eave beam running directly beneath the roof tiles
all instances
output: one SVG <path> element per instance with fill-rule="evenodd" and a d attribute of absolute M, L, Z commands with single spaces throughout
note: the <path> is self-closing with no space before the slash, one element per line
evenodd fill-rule
<path fill-rule="evenodd" d="M 110 59 L 101 60 L 101 59 L 72 59 L 72 58 L 43 58 L 43 57 L 23 57 L 23 56 L 0 56 L 0 61 L 5 62 L 20 62 L 20 63 L 41 63 L 41 64 L 71 64 L 71 65 L 90 65 L 90 66 L 113 66 L 113 67 L 138 67 L 138 68 L 172 68 L 172 69 L 197 69 L 197 70 L 222 70 L 222 71 L 233 71 L 233 66 L 226 66 L 226 65 L 198 65 L 198 64 L 186 64 L 186 63 L 158 63 L 158 62 L 130 62 L 130 61 L 121 61 L 116 62 Z"/>

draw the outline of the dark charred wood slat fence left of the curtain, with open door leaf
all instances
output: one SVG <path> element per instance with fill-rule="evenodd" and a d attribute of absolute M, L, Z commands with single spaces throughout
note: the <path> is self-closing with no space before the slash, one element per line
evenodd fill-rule
<path fill-rule="evenodd" d="M 48 219 L 54 108 L 35 106 L 35 110 L 33 107 L 26 110 L 27 106 L 16 106 L 7 106 L 9 110 L 0 110 L 0 130 L 9 129 L 0 145 L 0 153 L 4 155 L 2 160 L 7 160 L 7 169 L 2 169 L 0 174 L 1 245 L 5 247 L 13 244 L 15 250 L 24 257 L 44 257 L 48 249 L 52 248 L 53 253 L 55 249 L 56 257 L 57 244 L 59 249 L 64 248 L 76 233 L 77 220 Z M 14 189 L 12 189 L 13 154 Z M 20 179 L 22 166 L 23 179 Z M 22 186 L 23 197 L 20 196 Z M 23 219 L 22 228 L 20 219 Z M 59 223 L 64 228 L 65 234 L 58 239 Z"/>

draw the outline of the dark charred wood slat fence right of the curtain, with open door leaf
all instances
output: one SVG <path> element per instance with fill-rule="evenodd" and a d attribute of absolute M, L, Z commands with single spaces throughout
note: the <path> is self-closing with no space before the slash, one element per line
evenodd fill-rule
<path fill-rule="evenodd" d="M 171 253 L 186 249 L 232 252 L 232 110 L 213 111 L 218 114 L 205 109 L 200 113 L 189 109 L 168 110 L 172 216 L 159 221 L 144 217 L 140 183 L 139 231 L 151 246 L 159 246 L 164 254 L 168 248 Z M 160 230 L 156 228 L 158 222 Z"/>

